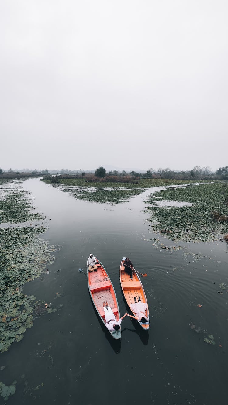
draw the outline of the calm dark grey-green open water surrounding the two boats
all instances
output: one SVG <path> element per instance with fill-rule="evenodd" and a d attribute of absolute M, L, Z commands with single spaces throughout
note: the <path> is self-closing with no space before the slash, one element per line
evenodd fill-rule
<path fill-rule="evenodd" d="M 0 366 L 6 367 L 0 380 L 17 380 L 8 403 L 227 404 L 228 293 L 219 288 L 219 283 L 228 286 L 226 243 L 175 244 L 153 234 L 142 212 L 151 190 L 129 203 L 102 205 L 76 200 L 38 179 L 23 184 L 51 219 L 42 238 L 62 246 L 49 274 L 28 283 L 24 292 L 63 307 L 34 320 L 24 339 L 1 354 Z M 184 249 L 165 250 L 160 243 L 155 249 L 147 241 L 154 237 Z M 125 318 L 121 341 L 115 341 L 100 324 L 87 278 L 78 272 L 90 252 L 111 277 L 121 315 L 128 310 L 119 283 L 121 258 L 129 256 L 148 274 L 142 281 L 149 333 Z M 58 300 L 56 292 L 62 294 Z M 194 332 L 192 324 L 202 332 Z M 204 342 L 209 334 L 215 345 Z"/>

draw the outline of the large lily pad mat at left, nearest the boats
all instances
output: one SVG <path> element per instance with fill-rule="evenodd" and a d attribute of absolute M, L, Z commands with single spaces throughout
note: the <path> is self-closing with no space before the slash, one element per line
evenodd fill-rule
<path fill-rule="evenodd" d="M 42 231 L 27 227 L 0 230 L 0 352 L 23 339 L 37 316 L 36 298 L 25 295 L 22 286 L 39 277 L 55 260 L 49 243 L 38 237 Z M 53 312 L 51 303 L 43 305 L 43 311 Z"/>

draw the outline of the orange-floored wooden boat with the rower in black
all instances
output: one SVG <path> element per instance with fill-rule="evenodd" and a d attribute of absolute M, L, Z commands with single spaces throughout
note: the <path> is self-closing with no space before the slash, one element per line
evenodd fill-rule
<path fill-rule="evenodd" d="M 123 257 L 120 263 L 120 269 L 119 269 L 119 276 L 120 276 L 120 283 L 121 283 L 121 288 L 124 294 L 124 298 L 126 299 L 128 306 L 130 308 L 130 311 L 133 316 L 136 316 L 136 313 L 134 313 L 130 307 L 130 304 L 134 304 L 134 297 L 136 297 L 136 300 L 138 301 L 138 298 L 140 296 L 140 300 L 143 303 L 147 304 L 147 298 L 146 294 L 143 288 L 143 284 L 141 283 L 141 279 L 139 275 L 136 273 L 134 267 L 132 270 L 132 279 L 130 279 L 130 275 L 125 272 L 123 262 L 126 260 L 126 257 Z M 145 314 L 147 315 L 148 322 L 143 323 L 139 322 L 140 326 L 144 330 L 149 329 L 149 309 L 148 309 L 148 304 L 147 304 L 147 309 L 145 311 Z"/>

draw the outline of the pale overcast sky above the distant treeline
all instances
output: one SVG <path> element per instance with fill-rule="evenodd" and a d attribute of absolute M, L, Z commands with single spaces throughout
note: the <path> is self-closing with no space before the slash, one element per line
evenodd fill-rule
<path fill-rule="evenodd" d="M 227 0 L 2 0 L 0 167 L 228 164 Z"/>

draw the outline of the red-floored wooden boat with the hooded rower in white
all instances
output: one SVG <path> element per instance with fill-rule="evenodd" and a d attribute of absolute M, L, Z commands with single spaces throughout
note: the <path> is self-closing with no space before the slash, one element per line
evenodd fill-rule
<path fill-rule="evenodd" d="M 89 266 L 87 266 L 87 279 L 88 279 L 88 287 L 89 293 L 94 303 L 94 307 L 96 308 L 98 315 L 102 322 L 104 322 L 105 326 L 105 316 L 104 316 L 104 307 L 103 302 L 109 304 L 109 307 L 112 309 L 115 319 L 118 322 L 120 315 L 119 315 L 119 305 L 117 303 L 117 298 L 115 295 L 115 290 L 113 288 L 113 283 L 111 282 L 107 271 L 104 269 L 102 263 L 96 258 L 98 264 L 97 271 L 89 271 Z M 105 326 L 106 328 L 106 326 Z M 107 330 L 109 330 L 107 328 Z M 121 337 L 121 327 L 119 330 L 109 330 L 111 335 L 114 339 L 120 339 Z"/>

